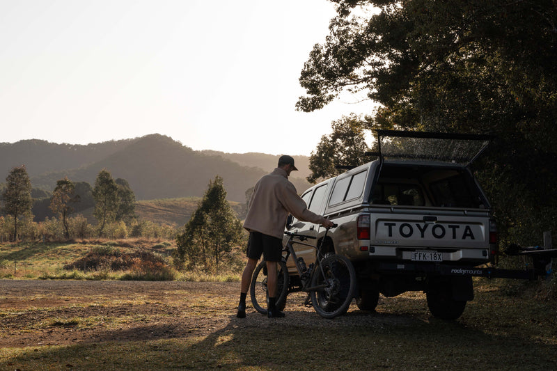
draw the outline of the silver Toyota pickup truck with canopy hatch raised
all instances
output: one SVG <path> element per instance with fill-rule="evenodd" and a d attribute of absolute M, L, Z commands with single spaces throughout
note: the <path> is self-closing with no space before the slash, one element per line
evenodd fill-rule
<path fill-rule="evenodd" d="M 356 303 L 375 310 L 379 293 L 424 291 L 432 315 L 455 319 L 473 299 L 474 267 L 494 258 L 496 226 L 470 166 L 489 136 L 377 131 L 378 159 L 320 182 L 301 197 L 338 224 L 324 230 L 290 219 L 288 230 L 317 237 L 324 253 L 349 258 Z M 294 244 L 309 264 L 315 249 Z M 296 285 L 294 262 L 287 262 Z M 462 274 L 460 274 L 462 273 Z"/>

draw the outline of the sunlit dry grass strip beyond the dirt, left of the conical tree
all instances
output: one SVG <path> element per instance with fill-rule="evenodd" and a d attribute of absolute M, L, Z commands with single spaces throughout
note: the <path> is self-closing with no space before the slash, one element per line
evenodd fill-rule
<path fill-rule="evenodd" d="M 0 278 L 172 280 L 173 242 L 84 239 L 0 245 Z"/>

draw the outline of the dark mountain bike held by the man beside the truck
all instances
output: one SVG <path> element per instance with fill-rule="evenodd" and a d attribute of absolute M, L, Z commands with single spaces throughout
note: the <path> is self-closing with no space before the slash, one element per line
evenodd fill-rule
<path fill-rule="evenodd" d="M 329 232 L 329 228 L 325 231 L 318 248 L 304 242 L 316 237 L 300 235 L 295 232 L 284 232 L 288 236 L 288 242 L 283 248 L 283 259 L 276 265 L 278 274 L 276 307 L 279 310 L 285 308 L 286 297 L 288 296 L 290 277 L 286 262 L 291 255 L 298 271 L 300 287 L 290 287 L 290 290 L 292 292 L 299 290 L 307 292 L 306 306 L 313 306 L 315 312 L 324 318 L 338 317 L 348 310 L 356 290 L 356 272 L 350 260 L 344 256 L 334 253 L 322 254 L 322 246 L 325 237 L 327 237 L 327 232 Z M 304 259 L 297 257 L 296 251 L 292 247 L 294 239 L 297 239 L 294 242 L 295 244 L 315 248 L 315 263 L 311 263 L 307 267 Z M 265 261 L 260 262 L 256 270 L 253 271 L 250 296 L 253 308 L 266 315 L 268 293 L 267 263 Z"/>

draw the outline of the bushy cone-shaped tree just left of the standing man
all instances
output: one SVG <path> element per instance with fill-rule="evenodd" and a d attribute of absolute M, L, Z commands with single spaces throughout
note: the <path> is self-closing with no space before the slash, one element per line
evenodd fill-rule
<path fill-rule="evenodd" d="M 189 265 L 200 264 L 205 270 L 218 270 L 226 253 L 242 241 L 242 223 L 236 218 L 226 200 L 222 177 L 209 182 L 207 191 L 177 237 L 180 260 L 189 260 Z"/>

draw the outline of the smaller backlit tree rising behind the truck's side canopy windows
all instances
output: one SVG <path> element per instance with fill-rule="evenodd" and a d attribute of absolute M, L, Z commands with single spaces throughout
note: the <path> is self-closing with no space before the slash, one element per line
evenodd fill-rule
<path fill-rule="evenodd" d="M 333 132 L 321 137 L 317 149 L 311 152 L 309 168 L 312 171 L 308 182 L 316 182 L 321 177 L 333 177 L 343 172 L 338 166 L 359 166 L 368 161 L 369 151 L 364 138 L 366 120 L 358 116 L 343 116 L 331 123 Z"/>

